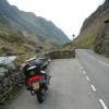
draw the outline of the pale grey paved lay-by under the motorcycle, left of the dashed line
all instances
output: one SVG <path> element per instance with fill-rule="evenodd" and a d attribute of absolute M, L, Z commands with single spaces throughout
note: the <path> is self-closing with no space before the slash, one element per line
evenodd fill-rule
<path fill-rule="evenodd" d="M 77 59 L 56 60 L 49 71 L 52 82 L 44 104 L 22 89 L 5 109 L 102 109 Z"/>

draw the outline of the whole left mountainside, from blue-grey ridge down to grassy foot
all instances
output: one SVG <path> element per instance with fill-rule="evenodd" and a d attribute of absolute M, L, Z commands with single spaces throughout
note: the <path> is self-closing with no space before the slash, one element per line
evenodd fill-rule
<path fill-rule="evenodd" d="M 0 53 L 52 49 L 69 39 L 52 22 L 0 0 Z M 19 45 L 19 46 L 17 46 Z"/>

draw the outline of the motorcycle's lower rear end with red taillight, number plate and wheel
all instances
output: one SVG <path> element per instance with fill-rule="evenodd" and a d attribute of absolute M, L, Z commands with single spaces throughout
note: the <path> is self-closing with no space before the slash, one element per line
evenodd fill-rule
<path fill-rule="evenodd" d="M 46 75 L 45 71 L 41 71 L 39 74 L 34 75 L 27 80 L 31 94 L 37 96 L 39 104 L 43 104 L 45 100 L 45 95 L 48 90 L 50 77 L 51 76 Z"/>

